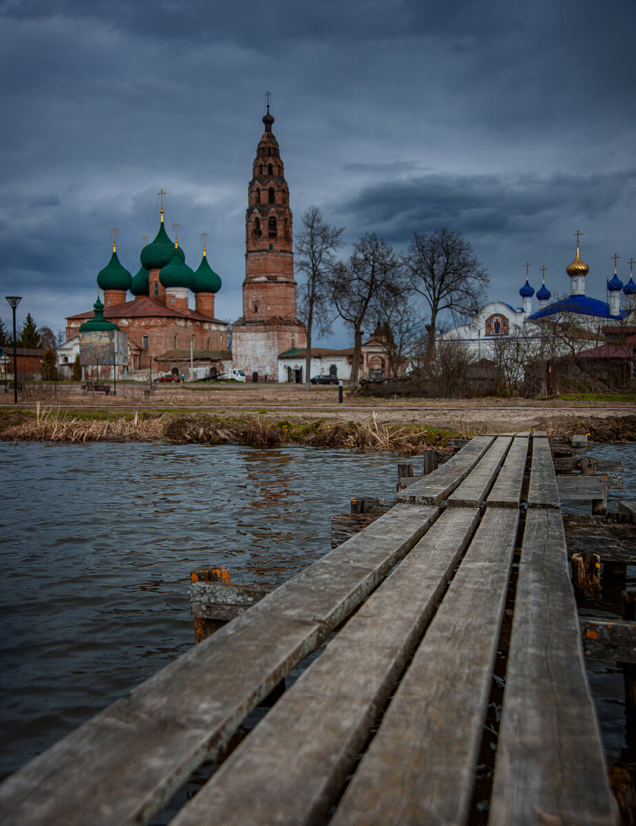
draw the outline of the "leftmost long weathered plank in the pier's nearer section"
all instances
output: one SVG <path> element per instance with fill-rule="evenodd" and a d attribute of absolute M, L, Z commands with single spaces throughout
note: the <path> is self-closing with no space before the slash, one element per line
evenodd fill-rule
<path fill-rule="evenodd" d="M 145 824 L 430 527 L 401 505 L 306 567 L 0 786 L 0 819 Z"/>

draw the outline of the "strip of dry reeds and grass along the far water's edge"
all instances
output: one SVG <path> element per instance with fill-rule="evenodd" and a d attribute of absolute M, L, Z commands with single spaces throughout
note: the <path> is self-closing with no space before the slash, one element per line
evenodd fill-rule
<path fill-rule="evenodd" d="M 636 415 L 620 418 L 577 416 L 567 421 L 546 415 L 537 430 L 548 434 L 588 433 L 595 441 L 636 441 Z M 174 444 L 247 444 L 274 447 L 300 444 L 309 447 L 352 450 L 390 450 L 413 454 L 444 448 L 453 437 L 472 436 L 486 429 L 463 423 L 458 429 L 413 423 L 382 422 L 373 412 L 362 420 L 293 416 L 273 413 L 216 414 L 203 411 L 112 410 L 60 411 L 38 406 L 31 411 L 0 412 L 0 439 L 4 441 L 52 441 L 81 444 L 94 441 L 126 442 L 165 439 Z"/>

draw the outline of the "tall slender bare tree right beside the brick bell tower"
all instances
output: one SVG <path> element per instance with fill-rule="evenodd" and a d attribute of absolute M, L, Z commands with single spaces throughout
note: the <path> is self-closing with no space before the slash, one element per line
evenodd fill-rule
<path fill-rule="evenodd" d="M 302 230 L 296 236 L 296 268 L 305 275 L 300 286 L 300 315 L 307 328 L 305 386 L 311 390 L 311 333 L 331 332 L 330 289 L 327 283 L 334 268 L 334 253 L 342 242 L 344 227 L 325 223 L 318 207 L 311 205 L 302 216 Z"/>

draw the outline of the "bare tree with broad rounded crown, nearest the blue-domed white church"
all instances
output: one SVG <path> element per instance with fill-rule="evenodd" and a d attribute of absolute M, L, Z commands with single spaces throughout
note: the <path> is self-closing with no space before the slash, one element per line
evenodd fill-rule
<path fill-rule="evenodd" d="M 430 309 L 425 352 L 425 361 L 430 363 L 439 313 L 448 311 L 455 323 L 474 315 L 485 300 L 490 278 L 462 233 L 446 227 L 430 235 L 415 232 L 402 261 L 409 286 L 424 297 Z"/>

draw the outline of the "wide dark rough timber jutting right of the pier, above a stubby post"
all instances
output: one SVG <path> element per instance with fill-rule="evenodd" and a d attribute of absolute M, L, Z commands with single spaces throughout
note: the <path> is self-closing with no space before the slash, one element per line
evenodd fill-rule
<path fill-rule="evenodd" d="M 572 553 L 598 553 L 601 563 L 636 565 L 636 525 L 624 525 L 601 520 L 581 520 L 580 516 L 563 514 L 567 556 Z"/>

